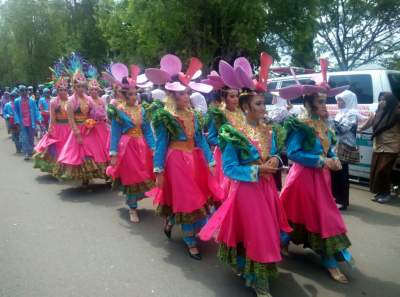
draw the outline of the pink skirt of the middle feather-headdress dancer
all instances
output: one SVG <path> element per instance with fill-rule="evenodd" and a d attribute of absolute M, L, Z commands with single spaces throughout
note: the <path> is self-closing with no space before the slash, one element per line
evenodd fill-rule
<path fill-rule="evenodd" d="M 105 147 L 106 140 L 98 133 L 96 128 L 88 129 L 85 125 L 78 125 L 83 141 L 81 144 L 78 143 L 71 131 L 57 162 L 73 166 L 82 165 L 87 159 L 92 159 L 95 163 L 108 163 L 109 154 Z M 105 133 L 104 129 L 106 129 L 106 126 L 101 129 Z"/>

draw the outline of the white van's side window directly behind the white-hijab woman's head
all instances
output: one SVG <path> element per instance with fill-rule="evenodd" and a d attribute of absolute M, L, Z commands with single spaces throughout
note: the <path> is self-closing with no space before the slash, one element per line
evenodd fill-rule
<path fill-rule="evenodd" d="M 329 85 L 332 88 L 350 85 L 349 90 L 357 95 L 359 104 L 373 103 L 372 77 L 370 74 L 330 75 Z M 328 104 L 334 104 L 334 97 L 328 98 Z"/>

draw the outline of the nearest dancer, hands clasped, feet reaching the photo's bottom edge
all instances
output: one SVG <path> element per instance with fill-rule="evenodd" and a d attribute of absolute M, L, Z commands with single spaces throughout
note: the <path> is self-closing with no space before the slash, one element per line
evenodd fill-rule
<path fill-rule="evenodd" d="M 236 77 L 241 84 L 243 77 L 246 82 L 239 96 L 246 118 L 240 127 L 226 123 L 220 129 L 222 164 L 232 182 L 227 199 L 201 230 L 200 238 L 209 240 L 216 234 L 220 261 L 231 265 L 257 296 L 271 296 L 269 280 L 277 276 L 276 263 L 282 260 L 281 234 L 291 228 L 272 177 L 281 163 L 277 140 L 272 126 L 263 121 L 263 93 L 272 60 L 266 53 L 261 57 L 257 83 L 251 79 L 251 70 L 246 72 L 251 67 L 244 58 L 235 68 L 226 66 L 230 78 Z"/>

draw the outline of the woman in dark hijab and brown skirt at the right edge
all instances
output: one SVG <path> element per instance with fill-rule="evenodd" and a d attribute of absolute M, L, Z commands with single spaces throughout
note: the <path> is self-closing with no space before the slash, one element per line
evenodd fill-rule
<path fill-rule="evenodd" d="M 360 128 L 372 127 L 373 154 L 369 188 L 379 203 L 390 201 L 391 172 L 400 153 L 400 103 L 390 92 L 379 95 L 378 110 L 374 117 Z"/>

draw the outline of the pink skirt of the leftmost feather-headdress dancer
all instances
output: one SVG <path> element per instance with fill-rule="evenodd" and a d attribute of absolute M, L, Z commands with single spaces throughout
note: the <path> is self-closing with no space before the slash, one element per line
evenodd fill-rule
<path fill-rule="evenodd" d="M 51 149 L 51 153 L 54 154 L 52 157 L 57 159 L 70 133 L 71 127 L 68 124 L 55 124 L 52 128 L 51 133 L 47 132 L 39 140 L 39 142 L 35 146 L 35 151 L 37 153 L 44 153 L 51 146 L 52 148 L 54 148 Z"/>

